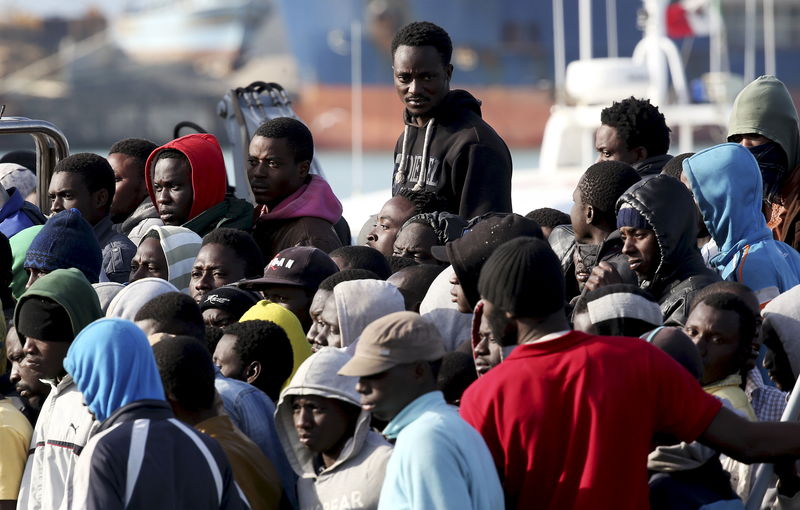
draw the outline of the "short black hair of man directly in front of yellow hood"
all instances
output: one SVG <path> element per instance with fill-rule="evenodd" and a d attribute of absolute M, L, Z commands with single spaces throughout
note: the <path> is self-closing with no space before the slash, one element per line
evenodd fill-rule
<path fill-rule="evenodd" d="M 278 400 L 281 386 L 294 367 L 292 344 L 283 328 L 272 321 L 251 320 L 231 324 L 225 334 L 236 337 L 234 350 L 244 366 L 253 361 L 261 363 L 261 375 L 253 386 Z"/>

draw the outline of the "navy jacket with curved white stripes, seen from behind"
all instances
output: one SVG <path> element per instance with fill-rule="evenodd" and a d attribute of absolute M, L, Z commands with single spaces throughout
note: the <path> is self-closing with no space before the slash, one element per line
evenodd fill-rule
<path fill-rule="evenodd" d="M 81 455 L 68 508 L 249 508 L 222 447 L 178 421 L 163 400 L 117 409 Z"/>

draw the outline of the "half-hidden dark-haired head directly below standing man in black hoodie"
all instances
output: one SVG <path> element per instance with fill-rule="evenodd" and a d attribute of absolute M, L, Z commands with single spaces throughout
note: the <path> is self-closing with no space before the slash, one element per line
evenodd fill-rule
<path fill-rule="evenodd" d="M 440 264 L 431 254 L 431 248 L 459 239 L 466 227 L 465 220 L 448 212 L 418 214 L 400 228 L 392 254 L 420 264 Z"/>

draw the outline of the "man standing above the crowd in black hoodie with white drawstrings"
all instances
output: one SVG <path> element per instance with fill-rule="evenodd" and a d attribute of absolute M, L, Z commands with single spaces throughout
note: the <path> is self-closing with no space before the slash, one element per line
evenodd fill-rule
<path fill-rule="evenodd" d="M 450 90 L 453 44 L 441 27 L 406 25 L 392 41 L 394 84 L 405 130 L 394 150 L 392 195 L 431 191 L 464 219 L 511 212 L 511 153 L 481 119 L 481 103 Z"/>

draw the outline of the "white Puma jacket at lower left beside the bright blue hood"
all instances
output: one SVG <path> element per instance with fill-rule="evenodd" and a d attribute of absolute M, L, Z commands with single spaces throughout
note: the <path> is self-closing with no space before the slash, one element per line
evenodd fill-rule
<path fill-rule="evenodd" d="M 67 375 L 53 385 L 33 431 L 17 508 L 65 507 L 67 483 L 95 428 L 96 422 L 72 377 Z"/>

